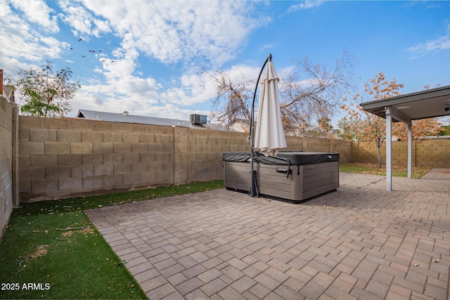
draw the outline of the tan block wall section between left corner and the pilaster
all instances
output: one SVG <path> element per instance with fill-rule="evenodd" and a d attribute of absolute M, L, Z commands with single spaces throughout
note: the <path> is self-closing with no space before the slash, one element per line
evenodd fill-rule
<path fill-rule="evenodd" d="M 174 183 L 174 128 L 20 116 L 20 201 Z"/>

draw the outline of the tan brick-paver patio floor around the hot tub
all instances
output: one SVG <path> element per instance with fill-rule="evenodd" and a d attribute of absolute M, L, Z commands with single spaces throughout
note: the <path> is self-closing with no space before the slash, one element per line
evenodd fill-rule
<path fill-rule="evenodd" d="M 449 299 L 450 170 L 340 174 L 289 204 L 212 190 L 86 211 L 150 299 Z"/>

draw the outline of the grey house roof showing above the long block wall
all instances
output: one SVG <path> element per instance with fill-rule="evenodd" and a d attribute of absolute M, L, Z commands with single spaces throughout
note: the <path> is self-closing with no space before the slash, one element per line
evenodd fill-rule
<path fill-rule="evenodd" d="M 127 111 L 123 113 L 115 112 L 98 112 L 95 110 L 78 110 L 78 118 L 96 119 L 99 121 L 121 122 L 121 123 L 135 123 L 135 124 L 149 124 L 160 126 L 186 126 L 191 128 L 206 128 L 206 126 L 193 125 L 190 121 L 180 119 L 166 119 L 159 117 L 148 117 L 139 115 L 129 115 Z M 208 128 L 216 130 L 229 130 L 225 126 L 219 124 L 208 124 Z"/>

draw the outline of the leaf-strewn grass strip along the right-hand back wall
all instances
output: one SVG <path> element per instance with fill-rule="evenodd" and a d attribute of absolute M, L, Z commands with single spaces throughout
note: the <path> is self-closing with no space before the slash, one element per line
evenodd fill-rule
<path fill-rule="evenodd" d="M 431 170 L 430 167 L 412 167 L 412 178 L 422 178 Z M 351 163 L 351 164 L 339 164 L 339 171 L 346 173 L 359 173 L 359 174 L 371 174 L 386 176 L 386 165 L 382 164 L 381 169 L 378 169 L 378 164 L 369 163 Z M 408 177 L 408 167 L 392 165 L 392 176 L 394 177 Z"/>

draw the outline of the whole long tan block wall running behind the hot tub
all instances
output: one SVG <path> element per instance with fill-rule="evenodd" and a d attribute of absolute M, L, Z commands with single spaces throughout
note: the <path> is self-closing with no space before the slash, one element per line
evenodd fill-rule
<path fill-rule="evenodd" d="M 20 201 L 112 193 L 223 178 L 223 152 L 249 151 L 248 133 L 20 116 Z M 288 150 L 351 142 L 287 137 Z"/>

